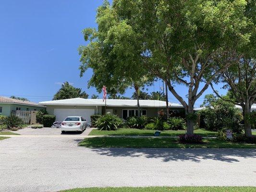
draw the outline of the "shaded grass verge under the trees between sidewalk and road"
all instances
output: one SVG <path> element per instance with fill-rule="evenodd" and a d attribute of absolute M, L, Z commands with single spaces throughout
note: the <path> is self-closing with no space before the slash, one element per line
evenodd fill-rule
<path fill-rule="evenodd" d="M 218 139 L 203 139 L 203 144 L 182 144 L 174 138 L 85 138 L 79 146 L 84 147 L 164 147 L 164 148 L 256 148 L 256 144 L 232 143 Z"/>

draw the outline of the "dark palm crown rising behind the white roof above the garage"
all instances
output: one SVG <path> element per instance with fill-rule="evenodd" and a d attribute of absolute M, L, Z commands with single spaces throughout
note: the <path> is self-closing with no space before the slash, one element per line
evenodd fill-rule
<path fill-rule="evenodd" d="M 86 94 L 84 91 L 82 92 L 82 89 L 75 88 L 68 82 L 64 82 L 61 85 L 61 89 L 54 95 L 53 100 L 61 100 L 61 99 L 71 99 L 71 98 L 88 98 L 88 94 Z"/>

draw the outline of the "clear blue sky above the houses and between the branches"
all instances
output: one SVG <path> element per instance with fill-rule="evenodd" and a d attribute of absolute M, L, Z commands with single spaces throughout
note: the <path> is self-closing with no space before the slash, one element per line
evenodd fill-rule
<path fill-rule="evenodd" d="M 97 27 L 96 9 L 102 0 L 1 0 L 0 6 L 0 96 L 24 96 L 31 101 L 51 100 L 68 81 L 90 96 L 87 88 L 92 75 L 79 77 L 79 45 L 86 45 L 81 31 Z M 148 87 L 159 91 L 161 82 Z M 177 85 L 183 97 L 187 88 Z M 219 89 L 221 94 L 226 91 Z M 131 96 L 128 89 L 125 96 Z M 204 95 L 212 93 L 211 89 Z M 178 102 L 169 93 L 171 102 Z M 199 98 L 196 106 L 203 101 Z"/>

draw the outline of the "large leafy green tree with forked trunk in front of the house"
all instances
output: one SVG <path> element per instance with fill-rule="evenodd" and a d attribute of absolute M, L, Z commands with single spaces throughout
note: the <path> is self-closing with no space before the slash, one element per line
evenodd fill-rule
<path fill-rule="evenodd" d="M 242 57 L 234 60 L 234 48 L 249 41 L 245 6 L 244 0 L 105 3 L 98 9 L 98 30 L 84 31 L 90 44 L 80 48 L 81 72 L 93 65 L 95 73 L 104 66 L 109 69 L 104 70 L 106 78 L 115 84 L 129 78 L 136 82 L 145 75 L 162 79 L 185 108 L 187 133 L 192 135 L 195 101 L 218 74 Z M 228 62 L 215 63 L 221 57 Z M 95 84 L 99 80 L 93 79 Z M 177 93 L 175 84 L 186 86 L 188 101 Z"/>

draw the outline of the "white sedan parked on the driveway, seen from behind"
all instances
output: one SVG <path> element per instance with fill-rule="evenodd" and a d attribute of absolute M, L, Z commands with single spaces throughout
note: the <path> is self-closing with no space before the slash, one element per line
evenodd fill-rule
<path fill-rule="evenodd" d="M 61 123 L 61 133 L 64 132 L 83 132 L 86 129 L 86 120 L 83 117 L 67 117 Z"/>

